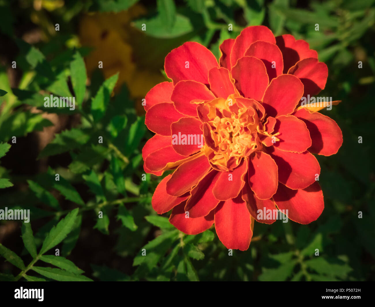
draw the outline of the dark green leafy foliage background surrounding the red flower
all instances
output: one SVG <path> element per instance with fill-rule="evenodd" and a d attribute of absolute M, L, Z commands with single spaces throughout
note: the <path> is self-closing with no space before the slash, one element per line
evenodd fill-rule
<path fill-rule="evenodd" d="M 0 279 L 375 280 L 374 2 L 0 0 L 0 209 L 31 211 L 29 224 L 0 221 Z M 166 80 L 172 48 L 196 41 L 219 57 L 260 24 L 327 63 L 320 96 L 342 102 L 323 113 L 344 143 L 317 157 L 317 221 L 256 223 L 249 250 L 228 256 L 214 228 L 184 235 L 151 208 L 161 178 L 142 181 L 141 99 Z M 51 93 L 76 109 L 45 108 Z"/>

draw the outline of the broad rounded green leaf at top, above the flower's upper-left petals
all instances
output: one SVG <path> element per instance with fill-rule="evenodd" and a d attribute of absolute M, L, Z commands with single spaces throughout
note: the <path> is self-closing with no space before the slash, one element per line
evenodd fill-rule
<path fill-rule="evenodd" d="M 144 33 L 155 38 L 176 38 L 193 31 L 189 18 L 180 14 L 176 14 L 175 18 L 174 26 L 170 29 L 166 29 L 165 21 L 160 16 L 136 20 L 134 26 L 142 30 L 142 24 L 145 24 L 146 31 Z"/>

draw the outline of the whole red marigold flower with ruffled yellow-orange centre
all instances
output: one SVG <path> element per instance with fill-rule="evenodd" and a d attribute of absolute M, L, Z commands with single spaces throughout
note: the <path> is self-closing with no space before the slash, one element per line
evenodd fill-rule
<path fill-rule="evenodd" d="M 172 82 L 145 97 L 145 124 L 156 134 L 142 156 L 148 173 L 174 170 L 153 195 L 158 214 L 173 209 L 169 221 L 187 234 L 215 224 L 226 248 L 247 250 L 254 220 L 275 221 L 258 210 L 285 210 L 301 224 L 320 216 L 312 154 L 335 154 L 342 133 L 321 108 L 300 106 L 328 76 L 307 42 L 252 26 L 220 51 L 217 63 L 210 50 L 186 42 L 166 56 Z"/>

